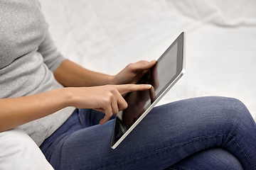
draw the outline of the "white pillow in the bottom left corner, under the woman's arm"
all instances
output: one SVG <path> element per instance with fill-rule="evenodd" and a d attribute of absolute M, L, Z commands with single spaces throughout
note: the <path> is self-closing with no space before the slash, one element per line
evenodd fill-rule
<path fill-rule="evenodd" d="M 0 132 L 1 170 L 53 170 L 41 149 L 21 128 Z"/>

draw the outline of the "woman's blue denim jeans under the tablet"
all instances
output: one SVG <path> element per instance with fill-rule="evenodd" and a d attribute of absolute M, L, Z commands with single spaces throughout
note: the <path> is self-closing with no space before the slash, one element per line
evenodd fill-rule
<path fill-rule="evenodd" d="M 234 98 L 202 97 L 155 107 L 116 149 L 114 120 L 83 109 L 41 145 L 57 169 L 256 169 L 256 124 Z"/>

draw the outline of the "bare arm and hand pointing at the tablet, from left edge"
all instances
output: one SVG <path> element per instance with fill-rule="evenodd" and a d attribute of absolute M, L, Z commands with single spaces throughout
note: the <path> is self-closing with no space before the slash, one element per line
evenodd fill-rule
<path fill-rule="evenodd" d="M 122 94 L 129 91 L 150 89 L 151 86 L 125 84 L 81 88 L 63 88 L 18 98 L 0 99 L 0 132 L 16 128 L 62 108 L 94 108 L 105 113 L 100 124 L 107 122 L 112 114 L 127 108 Z"/>

